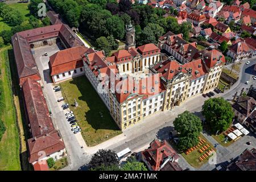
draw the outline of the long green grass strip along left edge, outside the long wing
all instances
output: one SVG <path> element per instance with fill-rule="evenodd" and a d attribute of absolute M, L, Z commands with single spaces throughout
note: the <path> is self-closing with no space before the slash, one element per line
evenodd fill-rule
<path fill-rule="evenodd" d="M 19 160 L 19 133 L 11 89 L 8 49 L 11 49 L 11 46 L 0 49 L 1 80 L 3 81 L 3 94 L 5 96 L 5 110 L 1 113 L 1 118 L 7 128 L 0 142 L 0 171 L 21 169 Z"/>

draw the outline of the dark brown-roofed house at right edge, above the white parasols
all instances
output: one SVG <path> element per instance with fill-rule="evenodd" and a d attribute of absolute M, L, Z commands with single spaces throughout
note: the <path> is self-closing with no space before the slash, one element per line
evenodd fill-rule
<path fill-rule="evenodd" d="M 235 104 L 232 105 L 235 118 L 241 124 L 245 123 L 245 119 L 256 109 L 256 101 L 253 97 L 238 96 Z"/>

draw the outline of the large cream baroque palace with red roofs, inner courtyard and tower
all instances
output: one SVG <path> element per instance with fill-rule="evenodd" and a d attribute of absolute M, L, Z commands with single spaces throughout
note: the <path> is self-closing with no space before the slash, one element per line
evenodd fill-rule
<path fill-rule="evenodd" d="M 83 46 L 65 28 L 56 23 L 19 32 L 17 36 L 24 34 L 38 39 L 35 44 L 29 38 L 26 49 L 38 44 L 47 45 L 52 37 L 54 41 L 64 44 L 65 49 L 49 57 L 52 81 L 85 75 L 121 130 L 143 121 L 148 115 L 170 110 L 189 97 L 213 89 L 218 84 L 222 64 L 225 63 L 224 55 L 214 47 L 200 51 L 196 43 L 187 43 L 182 34 L 167 32 L 159 38 L 157 46 L 151 43 L 136 48 L 135 29 L 129 24 L 126 26 L 125 49 L 108 57 L 104 51 Z M 59 39 L 56 39 L 57 36 Z M 17 38 L 13 38 L 13 44 L 15 40 Z M 69 44 L 72 45 L 65 46 Z M 17 57 L 15 55 L 19 66 Z M 20 85 L 23 77 L 34 79 L 38 75 L 36 66 L 29 70 L 35 70 L 35 73 L 19 76 Z"/>

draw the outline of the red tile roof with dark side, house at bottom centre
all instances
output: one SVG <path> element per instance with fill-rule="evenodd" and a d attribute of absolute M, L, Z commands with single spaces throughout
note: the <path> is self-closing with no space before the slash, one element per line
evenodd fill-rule
<path fill-rule="evenodd" d="M 164 160 L 168 157 L 176 160 L 179 158 L 179 155 L 177 155 L 175 150 L 167 143 L 166 140 L 163 142 L 154 140 L 150 143 L 150 148 L 142 151 L 142 158 L 150 164 L 154 171 L 158 171 L 164 163 Z"/>

